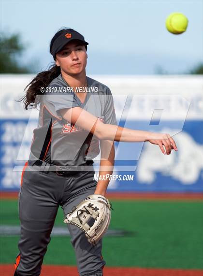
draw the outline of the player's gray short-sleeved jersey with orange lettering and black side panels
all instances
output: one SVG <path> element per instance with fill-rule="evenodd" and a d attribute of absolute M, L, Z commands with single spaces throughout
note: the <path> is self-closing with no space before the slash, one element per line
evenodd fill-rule
<path fill-rule="evenodd" d="M 64 108 L 81 107 L 105 124 L 117 125 L 110 89 L 87 77 L 84 103 L 60 74 L 40 96 L 38 128 L 34 130 L 30 159 L 55 165 L 83 165 L 100 153 L 99 139 L 60 115 Z"/>

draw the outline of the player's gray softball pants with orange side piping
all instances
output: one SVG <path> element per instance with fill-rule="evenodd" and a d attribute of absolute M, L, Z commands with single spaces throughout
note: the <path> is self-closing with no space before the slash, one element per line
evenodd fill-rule
<path fill-rule="evenodd" d="M 94 172 L 77 172 L 64 177 L 55 172 L 35 171 L 36 168 L 39 167 L 29 166 L 25 169 L 19 193 L 21 237 L 15 276 L 40 275 L 59 205 L 64 215 L 67 214 L 87 195 L 94 194 L 97 185 L 93 180 Z M 105 265 L 101 253 L 102 240 L 93 246 L 78 227 L 67 226 L 79 275 L 102 276 Z"/>

